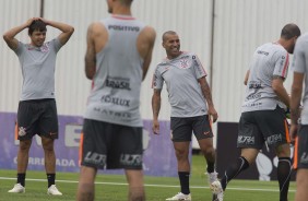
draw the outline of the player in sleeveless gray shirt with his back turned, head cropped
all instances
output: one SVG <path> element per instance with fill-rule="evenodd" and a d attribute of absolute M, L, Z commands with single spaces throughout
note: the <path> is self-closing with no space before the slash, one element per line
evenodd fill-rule
<path fill-rule="evenodd" d="M 128 200 L 144 201 L 140 90 L 156 33 L 132 16 L 132 0 L 107 4 L 112 15 L 87 29 L 85 74 L 93 88 L 84 116 L 78 200 L 94 200 L 97 169 L 123 168 Z"/>

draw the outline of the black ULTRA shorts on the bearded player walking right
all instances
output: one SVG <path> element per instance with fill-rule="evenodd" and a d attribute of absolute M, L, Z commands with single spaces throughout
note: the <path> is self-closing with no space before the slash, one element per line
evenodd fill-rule
<path fill-rule="evenodd" d="M 283 108 L 242 113 L 237 146 L 261 150 L 264 143 L 276 147 L 289 143 L 288 123 Z"/>

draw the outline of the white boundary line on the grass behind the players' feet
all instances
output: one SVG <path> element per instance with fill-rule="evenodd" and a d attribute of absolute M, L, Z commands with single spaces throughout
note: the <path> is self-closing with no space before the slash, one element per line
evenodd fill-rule
<path fill-rule="evenodd" d="M 0 180 L 15 180 L 16 178 L 12 177 L 0 177 Z M 27 178 L 26 180 L 31 181 L 39 181 L 39 182 L 45 182 L 46 179 L 29 179 Z M 57 182 L 69 182 L 69 184 L 78 184 L 79 181 L 76 180 L 56 180 Z M 125 182 L 95 182 L 96 185 L 110 185 L 110 186 L 127 186 L 128 184 Z M 145 187 L 158 187 L 158 188 L 179 188 L 179 186 L 173 186 L 173 185 L 144 185 Z M 209 188 L 208 186 L 190 186 L 192 189 L 204 189 Z M 277 192 L 279 189 L 256 189 L 256 188 L 242 188 L 242 187 L 237 187 L 237 188 L 227 188 L 227 190 L 245 190 L 245 191 L 268 191 L 268 192 Z M 288 190 L 289 192 L 295 192 L 295 190 Z"/>

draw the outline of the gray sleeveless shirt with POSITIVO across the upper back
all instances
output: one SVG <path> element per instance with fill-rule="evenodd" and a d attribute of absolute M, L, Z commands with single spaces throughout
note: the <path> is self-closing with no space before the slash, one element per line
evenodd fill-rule
<path fill-rule="evenodd" d="M 112 15 L 102 23 L 108 32 L 108 42 L 96 54 L 96 73 L 85 118 L 142 127 L 139 107 L 143 59 L 137 39 L 144 25 L 125 15 Z"/>

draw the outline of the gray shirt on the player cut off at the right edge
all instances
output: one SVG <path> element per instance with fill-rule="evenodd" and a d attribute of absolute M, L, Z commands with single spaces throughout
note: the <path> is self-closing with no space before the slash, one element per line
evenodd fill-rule
<path fill-rule="evenodd" d="M 308 125 L 308 34 L 300 36 L 294 49 L 293 57 L 294 72 L 305 73 L 305 92 L 303 97 L 301 125 Z"/>

